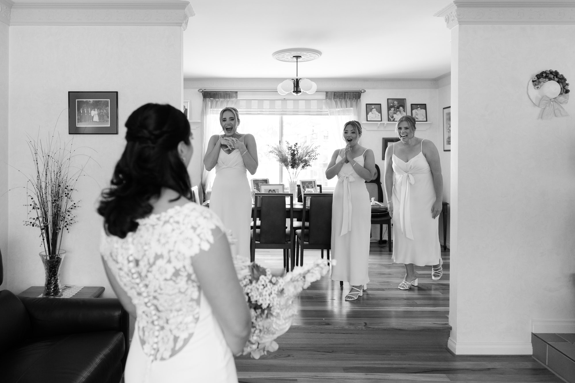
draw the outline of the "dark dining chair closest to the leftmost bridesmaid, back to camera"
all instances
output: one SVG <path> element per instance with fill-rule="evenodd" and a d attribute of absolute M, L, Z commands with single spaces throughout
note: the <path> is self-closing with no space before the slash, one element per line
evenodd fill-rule
<path fill-rule="evenodd" d="M 289 204 L 286 203 L 286 197 L 289 198 Z M 259 227 L 256 225 L 258 217 Z M 295 242 L 292 217 L 292 193 L 255 193 L 250 243 L 251 262 L 255 261 L 256 248 L 281 248 L 283 267 L 286 271 L 293 270 Z"/>

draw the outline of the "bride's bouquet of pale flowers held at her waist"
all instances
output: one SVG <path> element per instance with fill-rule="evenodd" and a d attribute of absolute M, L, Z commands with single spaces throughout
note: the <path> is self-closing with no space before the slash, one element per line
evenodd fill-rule
<path fill-rule="evenodd" d="M 236 258 L 235 265 L 252 319 L 250 339 L 242 354 L 259 359 L 278 349 L 275 339 L 289 330 L 296 313 L 293 299 L 323 277 L 329 266 L 327 261 L 319 259 L 313 265 L 296 266 L 291 273 L 274 277 L 269 269 L 255 262 Z"/>

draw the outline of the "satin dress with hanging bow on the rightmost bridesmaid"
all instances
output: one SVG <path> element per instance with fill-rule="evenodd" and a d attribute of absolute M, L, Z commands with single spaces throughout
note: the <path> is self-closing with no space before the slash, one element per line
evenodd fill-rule
<path fill-rule="evenodd" d="M 438 265 L 441 256 L 439 216 L 431 217 L 435 187 L 430 165 L 420 151 L 408 162 L 392 154 L 392 167 L 392 260 L 416 266 Z"/>

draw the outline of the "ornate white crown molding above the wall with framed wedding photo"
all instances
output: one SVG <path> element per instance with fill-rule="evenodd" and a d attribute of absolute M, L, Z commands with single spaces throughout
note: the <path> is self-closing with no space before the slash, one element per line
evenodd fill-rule
<path fill-rule="evenodd" d="M 0 2 L 7 0 L 0 0 Z M 187 1 L 16 2 L 10 25 L 181 26 L 194 16 Z"/>

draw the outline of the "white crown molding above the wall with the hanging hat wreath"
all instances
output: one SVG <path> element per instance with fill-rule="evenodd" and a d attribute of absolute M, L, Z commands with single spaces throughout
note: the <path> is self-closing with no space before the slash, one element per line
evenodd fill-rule
<path fill-rule="evenodd" d="M 461 24 L 575 24 L 573 0 L 455 0 L 434 16 Z"/>

